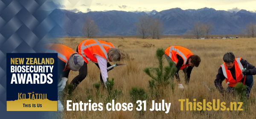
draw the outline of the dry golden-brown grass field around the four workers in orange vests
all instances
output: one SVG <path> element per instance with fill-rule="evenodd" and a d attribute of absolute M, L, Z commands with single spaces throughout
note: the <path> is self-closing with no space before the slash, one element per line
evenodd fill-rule
<path fill-rule="evenodd" d="M 61 43 L 67 45 L 76 50 L 77 45 L 84 39 L 73 38 L 60 38 Z M 242 57 L 246 59 L 250 64 L 256 65 L 256 38 L 244 38 L 244 39 L 214 39 L 214 40 L 183 40 L 183 39 L 137 39 L 137 38 L 99 38 L 96 40 L 104 40 L 112 42 L 112 44 L 119 49 L 124 50 L 129 54 L 130 59 L 121 61 L 119 63 L 127 63 L 127 66 L 119 66 L 108 72 L 108 77 L 115 78 L 114 88 L 122 90 L 123 96 L 117 99 L 115 102 L 129 103 L 130 95 L 129 90 L 131 87 L 136 86 L 138 88 L 144 88 L 148 94 L 148 80 L 151 78 L 143 71 L 146 67 L 157 67 L 157 59 L 155 52 L 157 48 L 167 48 L 171 45 L 180 45 L 189 48 L 193 54 L 197 54 L 201 57 L 201 64 L 198 68 L 192 70 L 190 83 L 180 90 L 177 87 L 177 81 L 174 92 L 170 86 L 167 86 L 160 99 L 155 99 L 156 102 L 171 102 L 171 109 L 169 113 L 164 111 L 149 111 L 151 108 L 151 100 L 147 100 L 147 111 L 143 114 L 136 111 L 107 111 L 105 105 L 103 105 L 103 111 L 64 111 L 64 119 L 255 119 L 256 117 L 256 88 L 255 85 L 250 93 L 250 104 L 248 111 L 180 111 L 180 102 L 178 99 L 197 99 L 201 101 L 206 99 L 206 102 L 212 102 L 212 99 L 220 99 L 220 102 L 226 102 L 226 107 L 230 102 L 236 102 L 236 97 L 224 98 L 215 88 L 214 80 L 218 73 L 218 68 L 223 63 L 222 57 L 226 52 L 232 51 L 236 57 Z M 148 47 L 152 44 L 151 47 Z M 111 62 L 111 64 L 114 64 Z M 166 59 L 164 64 L 167 65 Z M 76 77 L 79 72 L 71 71 L 68 77 L 68 82 Z M 73 102 L 88 102 L 90 96 L 93 97 L 93 102 L 104 102 L 107 95 L 105 89 L 100 88 L 100 98 L 96 98 L 96 90 L 93 84 L 99 82 L 100 70 L 92 62 L 88 64 L 87 77 L 79 84 L 76 90 L 73 92 L 71 100 Z M 183 85 L 184 77 L 183 72 L 180 71 L 180 79 Z M 255 80 L 255 77 L 253 78 Z M 212 90 L 209 91 L 205 84 Z M 225 81 L 224 81 L 225 82 Z M 224 88 L 227 87 L 225 83 L 222 83 Z M 64 101 L 70 100 L 70 97 L 66 97 Z M 62 103 L 66 107 L 66 102 Z M 184 105 L 186 105 L 184 103 Z M 185 108 L 185 106 L 184 106 Z M 66 110 L 66 109 L 65 109 Z"/>

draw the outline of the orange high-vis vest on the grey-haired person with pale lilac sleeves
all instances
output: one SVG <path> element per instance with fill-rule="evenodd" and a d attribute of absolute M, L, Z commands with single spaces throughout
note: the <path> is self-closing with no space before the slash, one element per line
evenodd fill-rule
<path fill-rule="evenodd" d="M 98 62 L 93 54 L 97 54 L 108 60 L 108 50 L 114 48 L 111 42 L 105 42 L 101 40 L 83 40 L 78 45 L 78 53 L 84 58 L 84 61 L 88 63 L 90 60 L 92 62 Z"/>

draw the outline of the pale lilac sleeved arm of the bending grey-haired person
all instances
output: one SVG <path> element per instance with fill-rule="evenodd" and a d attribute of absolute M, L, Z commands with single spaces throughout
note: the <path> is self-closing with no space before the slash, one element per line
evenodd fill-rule
<path fill-rule="evenodd" d="M 108 71 L 107 71 L 108 60 L 103 57 L 100 57 L 99 55 L 96 55 L 96 54 L 94 55 L 94 57 L 96 57 L 96 59 L 98 61 L 99 69 L 102 74 L 102 80 L 105 84 L 107 81 L 107 78 L 108 78 Z"/>

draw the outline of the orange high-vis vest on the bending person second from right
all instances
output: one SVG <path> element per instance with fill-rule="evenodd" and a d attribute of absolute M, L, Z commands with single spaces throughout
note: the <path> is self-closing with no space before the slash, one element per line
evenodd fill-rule
<path fill-rule="evenodd" d="M 180 55 L 180 57 L 182 57 L 182 59 L 183 59 L 183 65 L 181 66 L 180 69 L 183 69 L 183 68 L 189 66 L 189 64 L 186 64 L 186 62 L 188 61 L 188 58 L 191 55 L 193 55 L 189 49 L 181 47 L 181 46 L 170 46 L 169 48 L 167 48 L 165 50 L 165 54 L 168 55 L 169 57 L 171 57 L 172 61 L 175 62 L 175 65 L 178 62 L 177 54 Z"/>

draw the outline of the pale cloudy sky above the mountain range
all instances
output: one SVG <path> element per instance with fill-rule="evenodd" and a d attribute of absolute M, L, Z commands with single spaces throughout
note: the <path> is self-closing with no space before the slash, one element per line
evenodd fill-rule
<path fill-rule="evenodd" d="M 256 12 L 256 0 L 52 0 L 60 9 L 89 11 L 163 11 L 170 8 Z"/>

